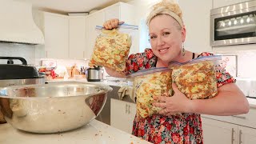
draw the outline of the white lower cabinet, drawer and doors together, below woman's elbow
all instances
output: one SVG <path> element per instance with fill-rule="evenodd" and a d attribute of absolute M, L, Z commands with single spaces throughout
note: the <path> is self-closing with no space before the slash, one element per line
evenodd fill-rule
<path fill-rule="evenodd" d="M 202 115 L 202 133 L 205 143 L 255 144 L 256 110 L 234 116 Z"/>

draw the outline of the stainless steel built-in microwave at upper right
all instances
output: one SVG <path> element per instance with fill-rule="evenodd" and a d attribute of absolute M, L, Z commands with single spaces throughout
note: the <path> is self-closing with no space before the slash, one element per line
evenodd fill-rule
<path fill-rule="evenodd" d="M 256 0 L 210 10 L 211 46 L 256 43 Z"/>

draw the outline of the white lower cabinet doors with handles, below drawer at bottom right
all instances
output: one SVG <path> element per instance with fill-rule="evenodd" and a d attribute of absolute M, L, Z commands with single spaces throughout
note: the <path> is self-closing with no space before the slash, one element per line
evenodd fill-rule
<path fill-rule="evenodd" d="M 256 129 L 202 118 L 202 133 L 206 144 L 255 144 Z"/>

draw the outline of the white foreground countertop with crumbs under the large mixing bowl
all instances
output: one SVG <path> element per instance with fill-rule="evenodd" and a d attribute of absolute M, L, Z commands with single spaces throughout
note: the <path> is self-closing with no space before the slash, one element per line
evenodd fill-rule
<path fill-rule="evenodd" d="M 2 144 L 146 144 L 142 138 L 137 138 L 105 123 L 93 120 L 77 130 L 57 134 L 33 134 L 16 130 L 10 124 L 0 125 L 0 143 Z"/>

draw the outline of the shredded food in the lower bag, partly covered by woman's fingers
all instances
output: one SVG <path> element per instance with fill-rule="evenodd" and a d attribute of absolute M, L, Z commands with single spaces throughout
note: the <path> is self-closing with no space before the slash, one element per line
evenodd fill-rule
<path fill-rule="evenodd" d="M 137 97 L 137 113 L 141 118 L 157 114 L 159 107 L 153 106 L 153 96 L 172 94 L 170 71 L 145 74 L 134 78 L 134 94 Z"/>

